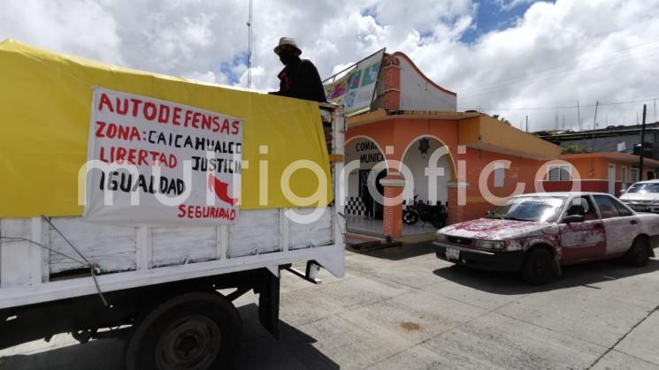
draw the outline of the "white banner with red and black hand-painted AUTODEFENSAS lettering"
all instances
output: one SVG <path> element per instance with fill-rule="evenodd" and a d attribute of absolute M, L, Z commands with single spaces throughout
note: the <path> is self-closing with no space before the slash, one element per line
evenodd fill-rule
<path fill-rule="evenodd" d="M 85 213 L 120 224 L 226 224 L 238 215 L 240 118 L 96 87 Z"/>

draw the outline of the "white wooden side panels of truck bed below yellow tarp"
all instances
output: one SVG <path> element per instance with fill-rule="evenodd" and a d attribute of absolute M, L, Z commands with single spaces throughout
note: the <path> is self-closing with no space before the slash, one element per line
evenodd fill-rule
<path fill-rule="evenodd" d="M 321 104 L 321 113 L 330 154 L 341 157 L 342 108 Z M 334 194 L 340 193 L 342 166 L 332 162 Z M 0 219 L 0 309 L 256 268 L 279 274 L 281 265 L 301 261 L 316 261 L 342 276 L 341 205 L 333 202 L 309 224 L 289 220 L 288 210 L 241 210 L 234 224 L 218 227 L 114 226 L 81 217 L 55 217 L 50 223 L 43 217 Z M 88 264 L 96 266 L 98 287 Z"/>

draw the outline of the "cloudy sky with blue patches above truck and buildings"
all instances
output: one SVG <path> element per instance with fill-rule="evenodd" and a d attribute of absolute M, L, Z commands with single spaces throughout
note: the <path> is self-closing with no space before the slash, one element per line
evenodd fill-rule
<path fill-rule="evenodd" d="M 659 0 L 253 0 L 252 87 L 277 87 L 293 36 L 322 77 L 407 53 L 458 96 L 531 130 L 636 124 L 659 99 Z M 0 39 L 111 64 L 247 85 L 248 0 L 3 0 Z M 557 118 L 556 118 L 557 117 Z"/>

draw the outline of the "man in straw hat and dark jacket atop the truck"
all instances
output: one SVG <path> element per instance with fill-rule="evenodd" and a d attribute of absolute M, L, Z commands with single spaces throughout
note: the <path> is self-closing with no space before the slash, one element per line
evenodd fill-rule
<path fill-rule="evenodd" d="M 300 59 L 302 50 L 297 47 L 295 39 L 282 37 L 274 52 L 280 56 L 281 63 L 286 67 L 277 75 L 280 79 L 280 91 L 270 94 L 327 102 L 316 66 L 308 59 Z"/>

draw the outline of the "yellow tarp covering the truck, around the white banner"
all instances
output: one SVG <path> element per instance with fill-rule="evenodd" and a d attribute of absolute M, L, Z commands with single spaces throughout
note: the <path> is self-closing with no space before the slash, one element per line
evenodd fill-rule
<path fill-rule="evenodd" d="M 0 42 L 0 217 L 81 215 L 78 171 L 87 161 L 92 88 L 141 94 L 244 119 L 241 208 L 287 208 L 280 175 L 296 160 L 329 159 L 318 104 L 194 83 L 69 57 L 13 41 Z M 268 154 L 259 154 L 259 146 Z M 268 201 L 259 205 L 259 161 L 268 161 Z M 318 177 L 298 170 L 300 197 Z M 332 186 L 327 185 L 327 200 Z"/>

